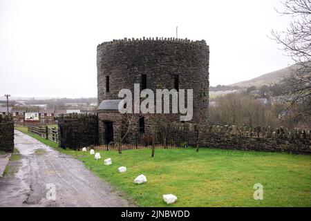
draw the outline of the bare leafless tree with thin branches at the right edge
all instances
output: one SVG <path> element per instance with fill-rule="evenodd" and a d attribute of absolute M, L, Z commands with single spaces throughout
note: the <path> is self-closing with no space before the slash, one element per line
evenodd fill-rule
<path fill-rule="evenodd" d="M 311 1 L 284 0 L 281 15 L 292 21 L 285 31 L 272 30 L 272 39 L 294 61 L 290 75 L 279 85 L 272 86 L 274 95 L 282 97 L 285 107 L 295 109 L 296 117 L 311 119 Z"/>

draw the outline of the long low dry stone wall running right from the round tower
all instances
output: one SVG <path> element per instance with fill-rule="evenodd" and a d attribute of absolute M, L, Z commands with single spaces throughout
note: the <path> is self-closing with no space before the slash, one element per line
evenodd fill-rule
<path fill-rule="evenodd" d="M 301 128 L 171 124 L 168 140 L 189 146 L 199 142 L 207 148 L 311 154 L 311 130 Z"/>

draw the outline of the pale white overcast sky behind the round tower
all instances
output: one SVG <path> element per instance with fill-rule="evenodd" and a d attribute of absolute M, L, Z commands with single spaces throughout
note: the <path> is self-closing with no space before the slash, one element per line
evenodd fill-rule
<path fill-rule="evenodd" d="M 281 0 L 0 0 L 0 95 L 97 96 L 96 47 L 124 37 L 205 39 L 211 86 L 291 63 L 269 39 Z"/>

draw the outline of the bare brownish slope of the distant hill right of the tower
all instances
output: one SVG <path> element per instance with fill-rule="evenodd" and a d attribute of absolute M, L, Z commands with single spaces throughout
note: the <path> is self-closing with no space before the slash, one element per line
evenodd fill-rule
<path fill-rule="evenodd" d="M 290 70 L 288 68 L 283 68 L 281 70 L 276 70 L 259 77 L 255 77 L 248 81 L 241 81 L 235 84 L 230 84 L 229 86 L 238 86 L 241 88 L 247 88 L 249 86 L 263 86 L 267 84 L 279 83 L 284 76 L 290 75 Z"/>

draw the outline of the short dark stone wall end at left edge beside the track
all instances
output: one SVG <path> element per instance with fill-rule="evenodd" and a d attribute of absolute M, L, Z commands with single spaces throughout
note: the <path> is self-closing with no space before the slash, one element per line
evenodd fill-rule
<path fill-rule="evenodd" d="M 0 115 L 0 150 L 14 150 L 14 122 L 11 115 Z"/>

